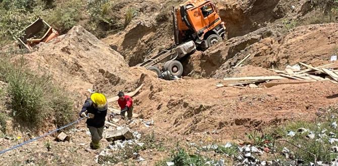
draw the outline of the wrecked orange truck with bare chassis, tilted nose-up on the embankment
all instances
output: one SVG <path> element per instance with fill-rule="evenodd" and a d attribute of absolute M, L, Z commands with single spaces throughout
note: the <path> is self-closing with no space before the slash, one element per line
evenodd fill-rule
<path fill-rule="evenodd" d="M 179 60 L 197 47 L 206 49 L 227 38 L 225 23 L 210 0 L 189 0 L 178 9 L 173 7 L 173 24 L 175 45 L 137 64 L 164 79 L 180 77 L 183 65 Z"/>

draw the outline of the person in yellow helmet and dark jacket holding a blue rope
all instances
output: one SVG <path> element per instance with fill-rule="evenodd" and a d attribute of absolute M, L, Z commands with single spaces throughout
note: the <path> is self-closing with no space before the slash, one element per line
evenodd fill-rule
<path fill-rule="evenodd" d="M 107 109 L 108 105 L 105 96 L 100 93 L 93 93 L 90 98 L 85 101 L 79 113 L 80 117 L 89 117 L 86 123 L 91 134 L 90 147 L 92 149 L 100 148 L 100 140 L 102 139 Z"/>

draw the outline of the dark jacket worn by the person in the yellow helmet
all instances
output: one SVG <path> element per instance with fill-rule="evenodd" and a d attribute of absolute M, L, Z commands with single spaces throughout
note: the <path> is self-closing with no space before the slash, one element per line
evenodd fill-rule
<path fill-rule="evenodd" d="M 79 113 L 80 117 L 81 117 L 81 114 L 85 112 L 86 110 L 87 110 L 87 114 L 91 113 L 95 115 L 94 118 L 87 119 L 86 123 L 88 126 L 92 126 L 96 128 L 100 128 L 104 126 L 104 121 L 105 121 L 105 116 L 107 115 L 107 110 L 104 110 L 104 111 L 97 110 L 94 107 L 93 101 L 91 101 L 91 99 L 87 99 L 85 101 L 84 105 L 82 106 L 82 110 Z"/>

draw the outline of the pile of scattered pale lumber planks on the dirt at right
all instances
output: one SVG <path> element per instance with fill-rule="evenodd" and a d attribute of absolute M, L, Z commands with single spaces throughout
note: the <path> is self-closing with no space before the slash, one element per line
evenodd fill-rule
<path fill-rule="evenodd" d="M 334 84 L 338 84 L 338 64 L 331 63 L 318 67 L 314 67 L 302 62 L 299 62 L 300 66 L 304 66 L 305 69 L 286 68 L 285 70 L 269 69 L 276 73 L 274 76 L 249 76 L 249 77 L 232 77 L 224 78 L 230 82 L 227 84 L 218 84 L 216 88 L 221 87 L 238 87 L 243 88 L 245 85 L 264 83 L 267 88 L 282 85 L 282 84 L 306 84 L 314 81 L 328 80 Z M 294 80 L 291 80 L 294 79 Z M 281 80 L 278 82 L 269 82 L 270 80 Z M 297 80 L 297 81 L 295 81 Z M 242 87 L 241 87 L 242 86 Z"/>

